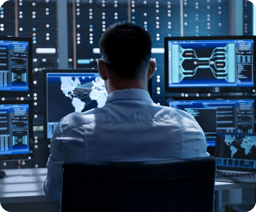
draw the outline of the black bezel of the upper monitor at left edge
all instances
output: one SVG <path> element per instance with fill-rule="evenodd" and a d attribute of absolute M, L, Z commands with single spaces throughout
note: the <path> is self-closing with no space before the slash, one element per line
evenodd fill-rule
<path fill-rule="evenodd" d="M 33 94 L 33 49 L 31 37 L 0 36 L 0 40 L 28 42 L 28 91 L 0 91 L 0 97 L 30 97 Z"/>

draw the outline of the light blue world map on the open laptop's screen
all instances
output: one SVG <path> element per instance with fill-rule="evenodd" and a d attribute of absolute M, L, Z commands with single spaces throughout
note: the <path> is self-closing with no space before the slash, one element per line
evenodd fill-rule
<path fill-rule="evenodd" d="M 236 152 L 243 152 L 245 155 L 254 154 L 254 149 L 256 148 L 256 137 L 247 136 L 237 138 L 234 135 L 225 135 L 225 143 L 229 146 L 231 151 L 231 158 L 233 158 Z"/>

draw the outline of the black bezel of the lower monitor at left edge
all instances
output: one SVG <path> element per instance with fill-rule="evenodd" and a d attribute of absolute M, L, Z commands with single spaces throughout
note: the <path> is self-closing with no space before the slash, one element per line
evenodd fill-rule
<path fill-rule="evenodd" d="M 29 147 L 30 153 L 24 154 L 12 154 L 12 155 L 0 155 L 0 161 L 5 160 L 25 160 L 31 159 L 34 157 L 34 136 L 33 136 L 33 101 L 32 100 L 23 100 L 23 101 L 13 101 L 13 100 L 5 100 L 0 101 L 1 104 L 28 104 L 28 133 L 29 133 Z"/>

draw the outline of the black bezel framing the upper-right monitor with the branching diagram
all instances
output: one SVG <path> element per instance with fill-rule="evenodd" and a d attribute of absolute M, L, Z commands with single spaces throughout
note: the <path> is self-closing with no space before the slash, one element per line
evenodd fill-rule
<path fill-rule="evenodd" d="M 164 38 L 164 77 L 165 77 L 165 92 L 167 93 L 229 93 L 243 92 L 255 93 L 256 90 L 256 55 L 253 57 L 253 81 L 254 86 L 250 87 L 179 87 L 169 88 L 169 69 L 168 69 L 168 41 L 198 41 L 198 40 L 253 40 L 254 52 L 256 50 L 256 36 L 254 35 L 230 35 L 230 36 L 191 36 L 191 37 L 165 37 Z"/>

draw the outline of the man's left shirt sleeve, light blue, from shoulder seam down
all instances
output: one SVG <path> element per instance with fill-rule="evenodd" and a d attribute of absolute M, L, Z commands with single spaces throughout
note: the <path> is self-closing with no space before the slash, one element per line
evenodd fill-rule
<path fill-rule="evenodd" d="M 51 200 L 60 200 L 62 162 L 83 162 L 85 159 L 85 142 L 83 126 L 69 128 L 78 122 L 75 114 L 62 118 L 53 132 L 50 157 L 47 161 L 47 177 L 44 182 L 45 195 Z"/>

